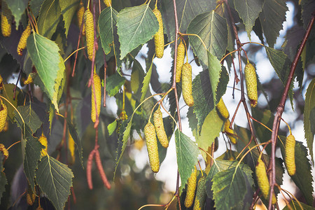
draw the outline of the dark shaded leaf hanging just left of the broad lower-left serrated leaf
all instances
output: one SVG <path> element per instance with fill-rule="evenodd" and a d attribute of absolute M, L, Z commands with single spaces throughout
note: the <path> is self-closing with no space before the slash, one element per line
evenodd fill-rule
<path fill-rule="evenodd" d="M 44 146 L 41 145 L 38 138 L 34 138 L 33 136 L 27 137 L 23 167 L 31 189 L 34 189 L 35 186 L 35 170 L 37 169 L 38 161 L 41 160 L 42 148 L 44 148 Z"/>

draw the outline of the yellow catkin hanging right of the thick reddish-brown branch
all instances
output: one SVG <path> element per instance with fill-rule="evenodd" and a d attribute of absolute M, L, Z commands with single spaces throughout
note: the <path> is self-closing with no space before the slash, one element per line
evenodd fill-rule
<path fill-rule="evenodd" d="M 295 167 L 295 137 L 290 134 L 286 137 L 286 158 L 284 159 L 286 163 L 286 169 L 288 174 L 293 176 L 296 171 Z"/>

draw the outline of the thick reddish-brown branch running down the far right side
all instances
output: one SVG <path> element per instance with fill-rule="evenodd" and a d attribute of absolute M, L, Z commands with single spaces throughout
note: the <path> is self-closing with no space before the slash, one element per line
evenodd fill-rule
<path fill-rule="evenodd" d="M 288 80 L 286 81 L 286 86 L 284 87 L 283 94 L 280 100 L 280 103 L 278 107 L 276 108 L 276 115 L 274 116 L 274 123 L 272 125 L 272 153 L 271 153 L 271 165 L 269 165 L 269 168 L 272 169 L 271 171 L 271 188 L 270 188 L 270 196 L 269 196 L 269 207 L 268 209 L 272 209 L 272 195 L 274 195 L 274 185 L 276 184 L 276 137 L 278 136 L 279 132 L 279 126 L 281 122 L 281 116 L 284 111 L 284 106 L 286 104 L 286 98 L 288 97 L 288 91 L 290 90 L 290 85 L 293 80 L 293 75 L 297 66 L 297 62 L 300 59 L 300 56 L 302 54 L 302 51 L 306 45 L 307 38 L 309 38 L 309 34 L 311 33 L 311 28 L 314 25 L 314 18 L 315 18 L 315 10 L 313 13 L 311 13 L 311 20 L 309 20 L 309 25 L 307 25 L 307 30 L 305 31 L 305 34 L 302 39 L 302 43 L 300 44 L 300 47 L 297 50 L 297 53 L 295 55 L 295 58 L 290 66 L 290 73 L 288 76 Z M 269 178 L 270 179 L 270 178 Z"/>

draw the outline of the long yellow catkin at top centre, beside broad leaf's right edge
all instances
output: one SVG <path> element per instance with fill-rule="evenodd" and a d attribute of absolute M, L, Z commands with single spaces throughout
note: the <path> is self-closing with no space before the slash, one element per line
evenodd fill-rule
<path fill-rule="evenodd" d="M 160 13 L 160 10 L 158 10 L 157 8 L 153 10 L 153 13 L 159 22 L 159 30 L 154 35 L 155 54 L 156 54 L 156 57 L 161 58 L 163 57 L 163 53 L 164 53 L 164 32 L 163 32 L 162 15 Z"/>

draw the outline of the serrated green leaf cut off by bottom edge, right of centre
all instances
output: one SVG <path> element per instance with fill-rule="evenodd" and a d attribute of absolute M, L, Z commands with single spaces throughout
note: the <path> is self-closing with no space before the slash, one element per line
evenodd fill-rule
<path fill-rule="evenodd" d="M 247 165 L 241 164 L 239 167 L 233 166 L 214 175 L 212 190 L 216 209 L 230 210 L 243 202 L 247 193 L 246 186 L 253 185 L 251 173 L 246 173 L 248 170 L 251 169 Z"/>

